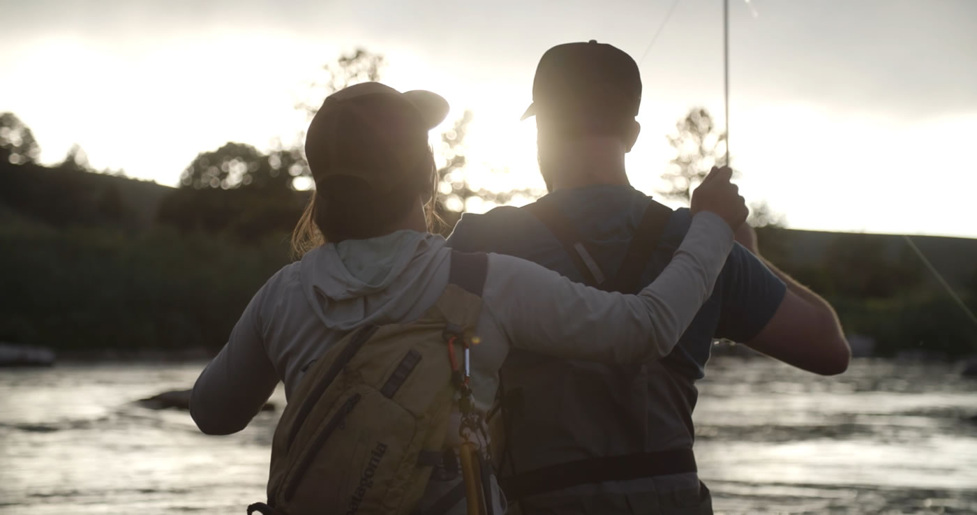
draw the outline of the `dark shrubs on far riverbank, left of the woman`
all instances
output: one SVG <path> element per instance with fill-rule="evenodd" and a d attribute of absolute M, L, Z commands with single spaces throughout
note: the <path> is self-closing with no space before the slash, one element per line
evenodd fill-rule
<path fill-rule="evenodd" d="M 263 244 L 105 227 L 0 225 L 0 340 L 61 350 L 219 348 L 255 291 L 288 262 Z"/>

